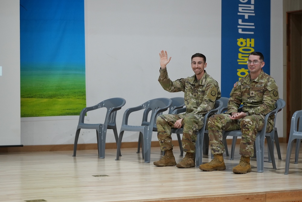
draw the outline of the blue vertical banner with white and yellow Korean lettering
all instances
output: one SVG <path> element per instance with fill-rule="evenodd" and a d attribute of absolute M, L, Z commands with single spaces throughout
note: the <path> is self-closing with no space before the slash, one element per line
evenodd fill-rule
<path fill-rule="evenodd" d="M 264 55 L 263 71 L 270 73 L 270 0 L 222 0 L 221 96 L 230 97 L 234 83 L 249 71 L 251 52 Z"/>

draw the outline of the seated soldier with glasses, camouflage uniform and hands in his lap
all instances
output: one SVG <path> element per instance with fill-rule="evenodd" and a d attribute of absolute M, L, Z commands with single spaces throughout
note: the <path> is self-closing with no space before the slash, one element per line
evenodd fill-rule
<path fill-rule="evenodd" d="M 233 168 L 234 173 L 251 172 L 250 157 L 254 155 L 254 142 L 257 131 L 262 130 L 265 115 L 275 108 L 279 99 L 278 86 L 275 80 L 264 73 L 264 57 L 260 52 L 252 52 L 247 64 L 249 74 L 234 84 L 230 93 L 228 110 L 223 114 L 213 115 L 208 122 L 211 150 L 214 159 L 202 164 L 199 169 L 204 171 L 225 170 L 222 143 L 222 130 L 241 130 L 239 165 Z M 243 103 L 242 112 L 238 107 Z M 273 130 L 274 115 L 269 117 L 266 132 Z"/>

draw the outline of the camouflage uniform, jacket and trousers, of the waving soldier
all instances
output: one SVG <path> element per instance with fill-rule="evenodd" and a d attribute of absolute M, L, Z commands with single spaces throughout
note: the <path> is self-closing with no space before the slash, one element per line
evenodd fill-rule
<path fill-rule="evenodd" d="M 156 119 L 157 137 L 161 150 L 169 150 L 173 147 L 171 128 L 174 128 L 177 120 L 183 118 L 183 151 L 194 153 L 197 132 L 204 124 L 203 115 L 213 109 L 216 99 L 221 97 L 219 85 L 206 71 L 199 81 L 194 75 L 172 82 L 168 77 L 167 69 L 160 69 L 158 81 L 166 91 L 185 92 L 186 105 L 185 114 L 165 114 Z"/>

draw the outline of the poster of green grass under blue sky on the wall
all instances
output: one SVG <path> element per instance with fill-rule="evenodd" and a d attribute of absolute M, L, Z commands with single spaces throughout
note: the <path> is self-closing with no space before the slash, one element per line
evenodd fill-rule
<path fill-rule="evenodd" d="M 84 0 L 20 0 L 21 117 L 86 106 Z"/>

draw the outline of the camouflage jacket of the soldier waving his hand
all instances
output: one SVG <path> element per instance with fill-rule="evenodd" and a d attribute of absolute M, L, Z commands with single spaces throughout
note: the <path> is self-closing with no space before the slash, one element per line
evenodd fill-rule
<path fill-rule="evenodd" d="M 167 68 L 159 70 L 158 81 L 162 88 L 169 92 L 185 92 L 185 115 L 205 115 L 215 106 L 216 99 L 221 97 L 219 85 L 204 71 L 201 80 L 197 82 L 195 75 L 186 79 L 171 81 Z"/>

